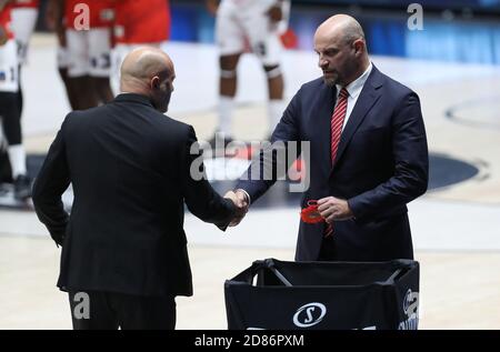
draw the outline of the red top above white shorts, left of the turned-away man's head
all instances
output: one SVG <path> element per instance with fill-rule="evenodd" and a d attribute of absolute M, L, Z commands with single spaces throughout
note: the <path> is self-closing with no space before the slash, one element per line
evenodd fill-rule
<path fill-rule="evenodd" d="M 89 27 L 111 27 L 113 21 L 113 0 L 66 0 L 64 18 L 67 28 L 74 28 L 74 20 L 82 14 L 81 4 L 89 7 Z M 77 12 L 74 12 L 77 11 Z M 77 20 L 81 22 L 80 20 Z"/>

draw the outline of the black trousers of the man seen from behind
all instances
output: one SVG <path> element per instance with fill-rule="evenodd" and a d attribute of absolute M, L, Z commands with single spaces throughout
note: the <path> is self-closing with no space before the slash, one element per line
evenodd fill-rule
<path fill-rule="evenodd" d="M 174 296 L 69 292 L 73 330 L 173 330 Z"/>

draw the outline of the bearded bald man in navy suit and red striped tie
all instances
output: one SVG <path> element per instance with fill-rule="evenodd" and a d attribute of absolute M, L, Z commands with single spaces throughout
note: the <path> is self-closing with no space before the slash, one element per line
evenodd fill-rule
<path fill-rule="evenodd" d="M 271 140 L 310 141 L 302 208 L 318 200 L 326 221 L 300 223 L 296 260 L 412 259 L 407 203 L 426 192 L 429 169 L 419 97 L 370 62 L 362 28 L 349 16 L 324 21 L 314 50 L 323 77 L 300 88 Z M 263 153 L 256 162 L 277 165 Z M 250 204 L 274 181 L 249 168 L 234 192 Z"/>

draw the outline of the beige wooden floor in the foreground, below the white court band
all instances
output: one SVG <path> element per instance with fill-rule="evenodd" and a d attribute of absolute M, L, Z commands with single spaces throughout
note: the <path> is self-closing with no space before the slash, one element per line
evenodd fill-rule
<path fill-rule="evenodd" d="M 58 252 L 48 239 L 0 237 L 0 329 L 71 329 L 67 294 L 54 286 Z M 191 247 L 194 295 L 177 299 L 177 329 L 227 329 L 224 280 L 264 258 L 292 260 L 293 251 Z M 420 329 L 500 329 L 500 253 L 421 251 L 416 259 Z"/>

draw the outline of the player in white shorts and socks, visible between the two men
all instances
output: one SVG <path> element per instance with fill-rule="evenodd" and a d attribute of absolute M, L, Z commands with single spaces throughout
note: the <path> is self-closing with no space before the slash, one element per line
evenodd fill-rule
<path fill-rule="evenodd" d="M 219 123 L 224 144 L 232 140 L 231 118 L 237 92 L 237 66 L 248 44 L 262 63 L 268 79 L 269 131 L 283 112 L 283 76 L 280 67 L 280 33 L 288 23 L 290 2 L 283 0 L 207 0 L 216 14 L 216 41 L 220 57 Z M 214 138 L 211 141 L 214 144 Z"/>

